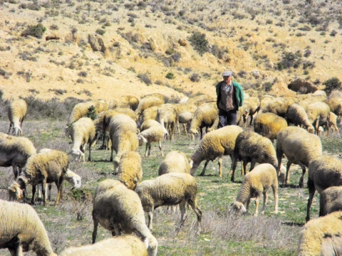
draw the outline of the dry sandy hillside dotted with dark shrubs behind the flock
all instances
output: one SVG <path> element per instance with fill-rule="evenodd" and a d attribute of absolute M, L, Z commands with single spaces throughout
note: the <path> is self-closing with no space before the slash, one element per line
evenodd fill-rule
<path fill-rule="evenodd" d="M 252 95 L 342 80 L 339 0 L 0 3 L 4 98 L 214 96 L 225 69 Z"/>

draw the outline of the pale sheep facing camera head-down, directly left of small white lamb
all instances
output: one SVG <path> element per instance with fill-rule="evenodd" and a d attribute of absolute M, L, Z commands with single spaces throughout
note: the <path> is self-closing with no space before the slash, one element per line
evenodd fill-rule
<path fill-rule="evenodd" d="M 118 173 L 120 157 L 128 151 L 138 149 L 137 124 L 126 114 L 116 114 L 110 119 L 109 138 L 112 142 L 110 161 L 113 161 L 114 172 Z M 113 160 L 113 151 L 116 156 Z"/>

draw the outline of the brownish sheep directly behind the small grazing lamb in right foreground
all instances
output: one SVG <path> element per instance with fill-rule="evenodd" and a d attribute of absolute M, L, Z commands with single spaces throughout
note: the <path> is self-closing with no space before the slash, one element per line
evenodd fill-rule
<path fill-rule="evenodd" d="M 257 132 L 240 132 L 235 140 L 234 152 L 232 157 L 232 178 L 234 182 L 234 173 L 237 168 L 237 161 L 242 160 L 242 171 L 246 175 L 247 164 L 251 162 L 249 171 L 254 169 L 255 164 L 268 163 L 276 168 L 276 151 L 272 142 L 266 137 L 257 134 Z"/>

